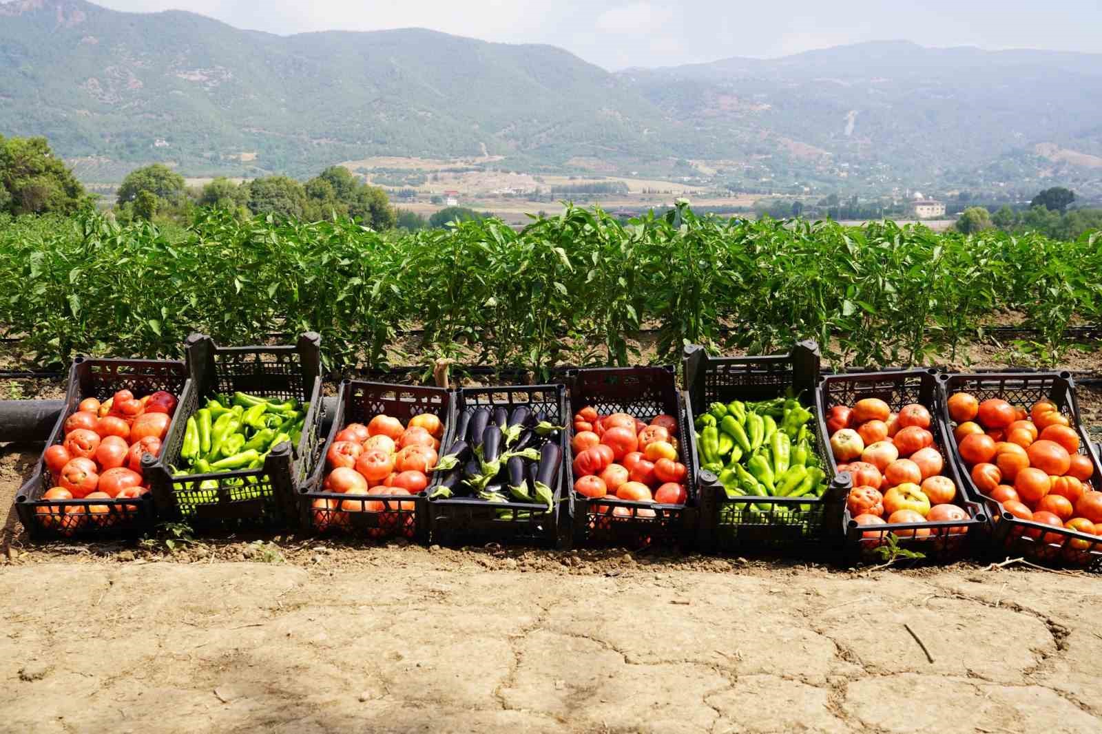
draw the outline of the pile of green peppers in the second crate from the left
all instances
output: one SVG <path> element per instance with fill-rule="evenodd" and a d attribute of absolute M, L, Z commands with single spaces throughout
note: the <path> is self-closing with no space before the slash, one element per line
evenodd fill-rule
<path fill-rule="evenodd" d="M 187 419 L 180 451 L 187 468 L 174 467 L 176 475 L 219 474 L 258 469 L 272 449 L 284 441 L 296 444 L 302 436 L 310 403 L 298 400 L 258 398 L 235 392 L 218 396 Z M 216 488 L 208 481 L 202 489 Z"/>

